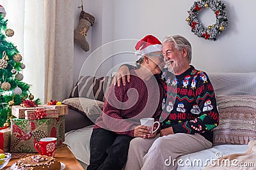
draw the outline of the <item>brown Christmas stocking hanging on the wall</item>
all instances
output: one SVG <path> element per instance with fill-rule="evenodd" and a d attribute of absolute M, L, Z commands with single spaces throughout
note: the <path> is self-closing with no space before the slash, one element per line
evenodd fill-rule
<path fill-rule="evenodd" d="M 95 18 L 83 10 L 83 4 L 81 7 L 82 11 L 79 17 L 79 25 L 74 31 L 74 39 L 79 43 L 84 52 L 88 52 L 90 47 L 89 43 L 86 41 L 86 34 L 90 27 L 94 24 Z"/>

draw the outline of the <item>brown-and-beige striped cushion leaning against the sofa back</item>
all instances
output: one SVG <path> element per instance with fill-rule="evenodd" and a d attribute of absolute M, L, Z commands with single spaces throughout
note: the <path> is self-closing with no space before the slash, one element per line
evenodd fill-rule
<path fill-rule="evenodd" d="M 105 101 L 105 96 L 113 77 L 81 76 L 72 90 L 70 97 L 87 97 L 98 101 Z"/>

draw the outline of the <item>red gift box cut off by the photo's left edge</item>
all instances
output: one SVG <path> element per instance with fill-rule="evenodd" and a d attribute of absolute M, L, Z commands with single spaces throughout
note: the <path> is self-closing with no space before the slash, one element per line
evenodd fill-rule
<path fill-rule="evenodd" d="M 0 130 L 0 149 L 4 152 L 10 151 L 11 128 Z"/>

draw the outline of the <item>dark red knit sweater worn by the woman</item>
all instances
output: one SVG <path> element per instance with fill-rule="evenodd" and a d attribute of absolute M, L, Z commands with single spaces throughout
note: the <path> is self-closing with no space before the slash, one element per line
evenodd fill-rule
<path fill-rule="evenodd" d="M 159 120 L 163 93 L 163 86 L 154 76 L 143 81 L 132 70 L 130 83 L 109 87 L 103 111 L 93 129 L 104 128 L 133 137 L 134 127 L 140 125 L 140 118 Z"/>

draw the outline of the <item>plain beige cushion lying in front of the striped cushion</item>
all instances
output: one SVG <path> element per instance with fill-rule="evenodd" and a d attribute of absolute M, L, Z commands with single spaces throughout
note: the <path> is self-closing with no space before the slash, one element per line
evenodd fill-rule
<path fill-rule="evenodd" d="M 73 97 L 62 101 L 63 104 L 67 104 L 73 110 L 83 113 L 86 117 L 90 118 L 93 122 L 99 117 L 104 103 L 85 97 Z"/>

